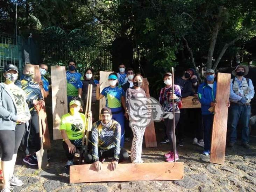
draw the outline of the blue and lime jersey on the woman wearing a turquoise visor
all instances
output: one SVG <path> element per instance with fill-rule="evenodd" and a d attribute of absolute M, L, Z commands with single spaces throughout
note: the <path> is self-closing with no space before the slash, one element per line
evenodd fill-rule
<path fill-rule="evenodd" d="M 111 88 L 110 86 L 105 87 L 100 93 L 106 97 L 107 104 L 109 108 L 121 107 L 121 97 L 125 95 L 125 92 L 121 87 Z"/>

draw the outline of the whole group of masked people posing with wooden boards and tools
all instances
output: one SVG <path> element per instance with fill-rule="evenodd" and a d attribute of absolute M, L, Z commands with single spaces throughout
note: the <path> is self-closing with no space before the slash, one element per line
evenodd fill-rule
<path fill-rule="evenodd" d="M 97 170 L 101 169 L 105 158 L 112 159 L 112 170 L 118 162 L 127 161 L 129 155 L 124 148 L 125 141 L 131 137 L 132 145 L 130 157 L 132 163 L 143 163 L 141 158 L 143 135 L 146 127 L 131 118 L 130 100 L 145 98 L 145 91 L 141 88 L 143 77 L 135 74 L 133 69 L 126 69 L 122 63 L 118 73 L 108 76 L 109 86 L 100 92 L 99 81 L 94 79 L 93 70 L 86 69 L 84 76 L 76 70 L 76 62 L 68 62 L 66 71 L 67 100 L 69 113 L 61 118 L 60 131 L 63 137 L 63 148 L 67 156 L 66 169 L 73 165 L 73 158 L 78 149 L 81 149 L 83 129 L 86 116 L 92 121 L 92 130 L 88 138 L 89 148 L 86 151 L 85 161 L 94 163 Z M 0 84 L 0 146 L 1 168 L 3 175 L 3 191 L 11 190 L 10 185 L 22 185 L 22 181 L 13 175 L 17 151 L 21 145 L 24 151 L 23 161 L 29 165 L 37 165 L 35 152 L 31 153 L 31 145 L 35 151 L 40 150 L 39 125 L 37 108 L 45 105 L 44 99 L 48 96 L 49 82 L 44 77 L 48 66 L 40 64 L 41 80 L 34 80 L 34 66 L 26 64 L 23 74 L 18 80 L 18 69 L 15 65 L 6 65 L 4 68 L 5 82 Z M 252 81 L 244 76 L 248 74 L 248 66 L 238 65 L 232 74 L 235 76 L 230 81 L 230 116 L 231 128 L 229 146 L 236 143 L 236 128 L 240 121 L 242 124 L 242 145 L 249 148 L 249 118 L 250 100 L 254 97 Z M 164 155 L 167 162 L 174 161 L 173 144 L 176 143 L 176 135 L 173 129 L 178 128 L 178 145 L 183 146 L 184 121 L 187 110 L 182 108 L 182 98 L 194 96 L 201 103 L 201 109 L 194 109 L 197 125 L 194 144 L 204 147 L 203 154 L 210 154 L 211 129 L 213 124 L 213 112 L 210 107 L 218 105 L 215 101 L 217 83 L 214 80 L 215 71 L 208 69 L 205 73 L 205 82 L 199 85 L 198 76 L 194 69 L 185 71 L 182 77 L 176 77 L 174 92 L 172 92 L 172 73 L 163 76 L 165 86 L 159 94 L 159 103 L 164 113 L 175 114 L 175 126 L 173 119 L 163 119 L 165 125 L 165 138 L 161 143 L 170 144 L 170 151 Z M 88 85 L 92 84 L 91 113 L 84 114 L 87 100 Z M 99 101 L 106 98 L 106 107 L 100 111 Z M 174 105 L 173 101 L 174 100 Z M 83 107 L 84 106 L 84 107 Z M 202 122 L 202 124 L 200 123 Z M 130 126 L 131 125 L 131 126 Z M 132 133 L 132 134 L 131 134 Z M 175 159 L 178 160 L 176 151 Z M 49 157 L 48 157 L 49 158 Z"/>

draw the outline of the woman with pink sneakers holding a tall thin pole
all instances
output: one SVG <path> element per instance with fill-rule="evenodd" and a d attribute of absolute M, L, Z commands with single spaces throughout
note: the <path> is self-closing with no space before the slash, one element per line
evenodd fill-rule
<path fill-rule="evenodd" d="M 159 102 L 163 106 L 165 113 L 173 113 L 173 108 L 175 111 L 175 128 L 179 122 L 180 111 L 178 104 L 181 102 L 181 91 L 178 85 L 174 85 L 174 93 L 172 93 L 172 74 L 166 73 L 164 75 L 164 83 L 165 87 L 161 89 Z M 174 106 L 172 105 L 172 99 L 174 99 Z M 176 136 L 173 135 L 173 119 L 164 119 L 164 125 L 166 127 L 166 135 L 169 138 L 171 150 L 166 153 L 164 156 L 166 157 L 167 162 L 174 162 L 173 157 L 173 143 L 176 142 Z M 176 160 L 178 160 L 178 154 L 176 152 Z"/>

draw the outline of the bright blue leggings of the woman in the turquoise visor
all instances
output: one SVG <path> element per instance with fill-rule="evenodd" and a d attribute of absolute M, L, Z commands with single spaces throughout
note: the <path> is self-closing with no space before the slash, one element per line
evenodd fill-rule
<path fill-rule="evenodd" d="M 123 108 L 118 107 L 118 108 L 110 108 L 112 112 L 112 119 L 116 120 L 119 122 L 121 126 L 121 141 L 120 141 L 120 146 L 123 147 L 125 144 L 125 116 L 123 113 Z"/>

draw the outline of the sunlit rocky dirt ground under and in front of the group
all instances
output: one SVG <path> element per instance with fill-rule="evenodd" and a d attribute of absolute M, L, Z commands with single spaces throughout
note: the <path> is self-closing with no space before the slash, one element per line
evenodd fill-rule
<path fill-rule="evenodd" d="M 158 134 L 159 135 L 159 134 Z M 157 148 L 144 148 L 144 162 L 164 162 L 168 144 Z M 250 149 L 244 149 L 237 142 L 235 148 L 226 148 L 224 165 L 209 163 L 209 157 L 201 155 L 202 147 L 192 144 L 186 137 L 184 146 L 177 147 L 179 162 L 184 162 L 184 179 L 179 181 L 154 182 L 105 182 L 69 184 L 69 171 L 64 168 L 66 157 L 62 141 L 52 141 L 49 168 L 37 170 L 22 162 L 22 151 L 18 154 L 15 174 L 24 185 L 14 187 L 14 191 L 59 191 L 59 192 L 119 192 L 119 191 L 256 191 L 256 136 L 250 136 Z M 126 143 L 130 149 L 131 143 Z M 130 151 L 129 151 L 130 152 Z"/>

